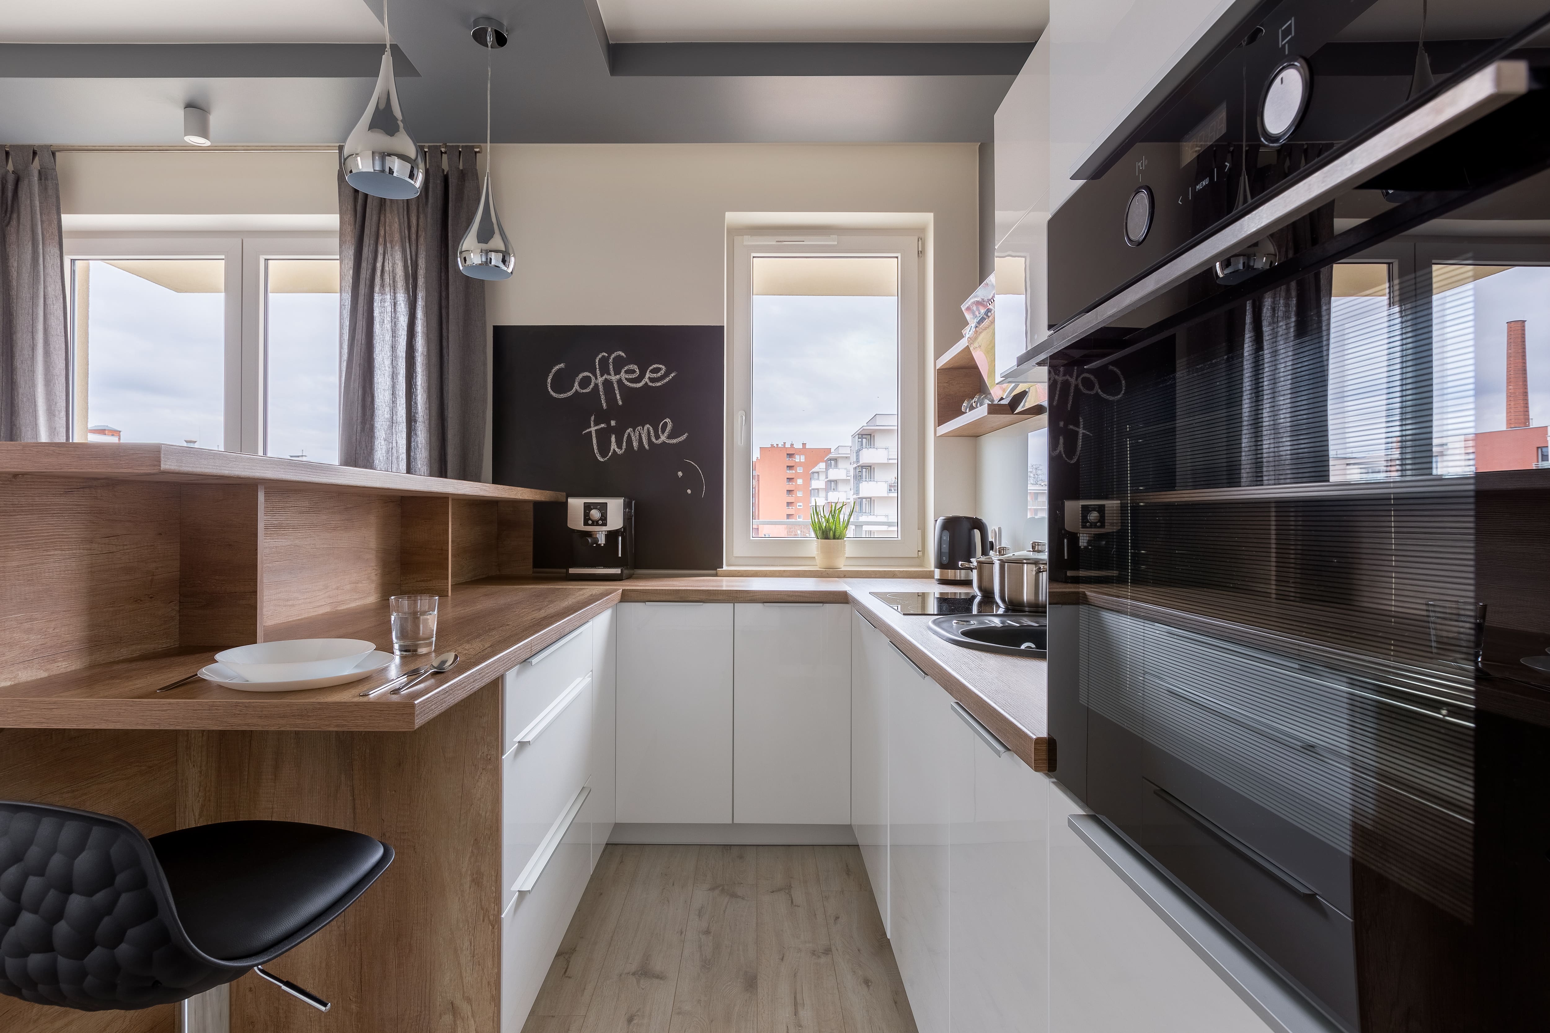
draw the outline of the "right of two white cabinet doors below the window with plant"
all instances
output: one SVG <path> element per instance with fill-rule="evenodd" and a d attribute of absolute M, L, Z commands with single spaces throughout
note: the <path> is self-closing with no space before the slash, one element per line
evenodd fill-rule
<path fill-rule="evenodd" d="M 732 821 L 851 821 L 851 607 L 738 602 Z"/>

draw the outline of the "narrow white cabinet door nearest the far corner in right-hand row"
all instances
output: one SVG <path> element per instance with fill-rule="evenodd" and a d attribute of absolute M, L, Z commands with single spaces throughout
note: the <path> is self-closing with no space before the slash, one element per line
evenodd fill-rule
<path fill-rule="evenodd" d="M 884 654 L 888 640 L 860 615 L 851 613 L 851 829 L 862 850 L 866 878 L 893 935 L 888 908 L 888 695 L 884 691 Z"/>

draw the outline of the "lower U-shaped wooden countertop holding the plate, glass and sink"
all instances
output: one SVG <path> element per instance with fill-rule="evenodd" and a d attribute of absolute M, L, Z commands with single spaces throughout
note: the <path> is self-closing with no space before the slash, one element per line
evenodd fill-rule
<path fill-rule="evenodd" d="M 370 678 L 302 692 L 237 692 L 203 681 L 157 692 L 212 661 L 211 654 L 167 650 L 0 688 L 0 726 L 172 728 L 291 731 L 412 731 L 567 635 L 615 602 L 849 602 L 899 650 L 963 703 L 1034 770 L 1054 756 L 1045 719 L 1045 663 L 953 646 L 922 616 L 902 616 L 871 592 L 928 592 L 933 582 L 832 578 L 639 578 L 574 582 L 487 578 L 453 587 L 443 599 L 437 650 L 457 650 L 457 668 L 429 698 L 360 692 Z M 265 629 L 265 638 L 388 638 L 378 601 Z M 408 666 L 415 666 L 411 660 Z M 415 697 L 425 694 L 417 692 Z"/>

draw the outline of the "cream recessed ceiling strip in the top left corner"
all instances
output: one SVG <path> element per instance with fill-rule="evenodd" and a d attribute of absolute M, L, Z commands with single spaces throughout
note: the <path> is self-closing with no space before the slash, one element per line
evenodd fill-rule
<path fill-rule="evenodd" d="M 364 0 L 71 0 L 0 5 L 0 43 L 374 43 Z"/>

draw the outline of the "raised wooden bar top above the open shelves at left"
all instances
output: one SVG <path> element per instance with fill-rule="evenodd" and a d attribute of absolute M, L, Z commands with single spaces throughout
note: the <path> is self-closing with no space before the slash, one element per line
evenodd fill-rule
<path fill-rule="evenodd" d="M 0 475 L 101 477 L 181 483 L 274 483 L 394 496 L 459 496 L 502 502 L 564 502 L 564 492 L 417 477 L 356 466 L 248 455 L 180 444 L 0 441 Z"/>

